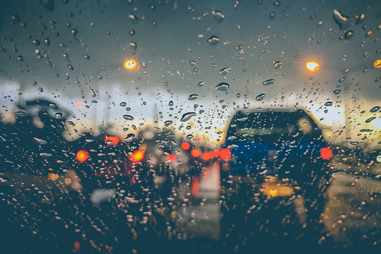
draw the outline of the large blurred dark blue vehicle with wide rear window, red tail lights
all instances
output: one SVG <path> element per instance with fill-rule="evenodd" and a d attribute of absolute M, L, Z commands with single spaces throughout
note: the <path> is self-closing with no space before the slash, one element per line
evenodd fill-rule
<path fill-rule="evenodd" d="M 292 179 L 294 185 L 313 185 L 333 156 L 317 124 L 302 110 L 238 111 L 223 147 L 231 150 L 229 174 L 275 176 Z M 264 178 L 265 182 L 274 180 Z M 269 191 L 270 196 L 280 195 Z"/>

